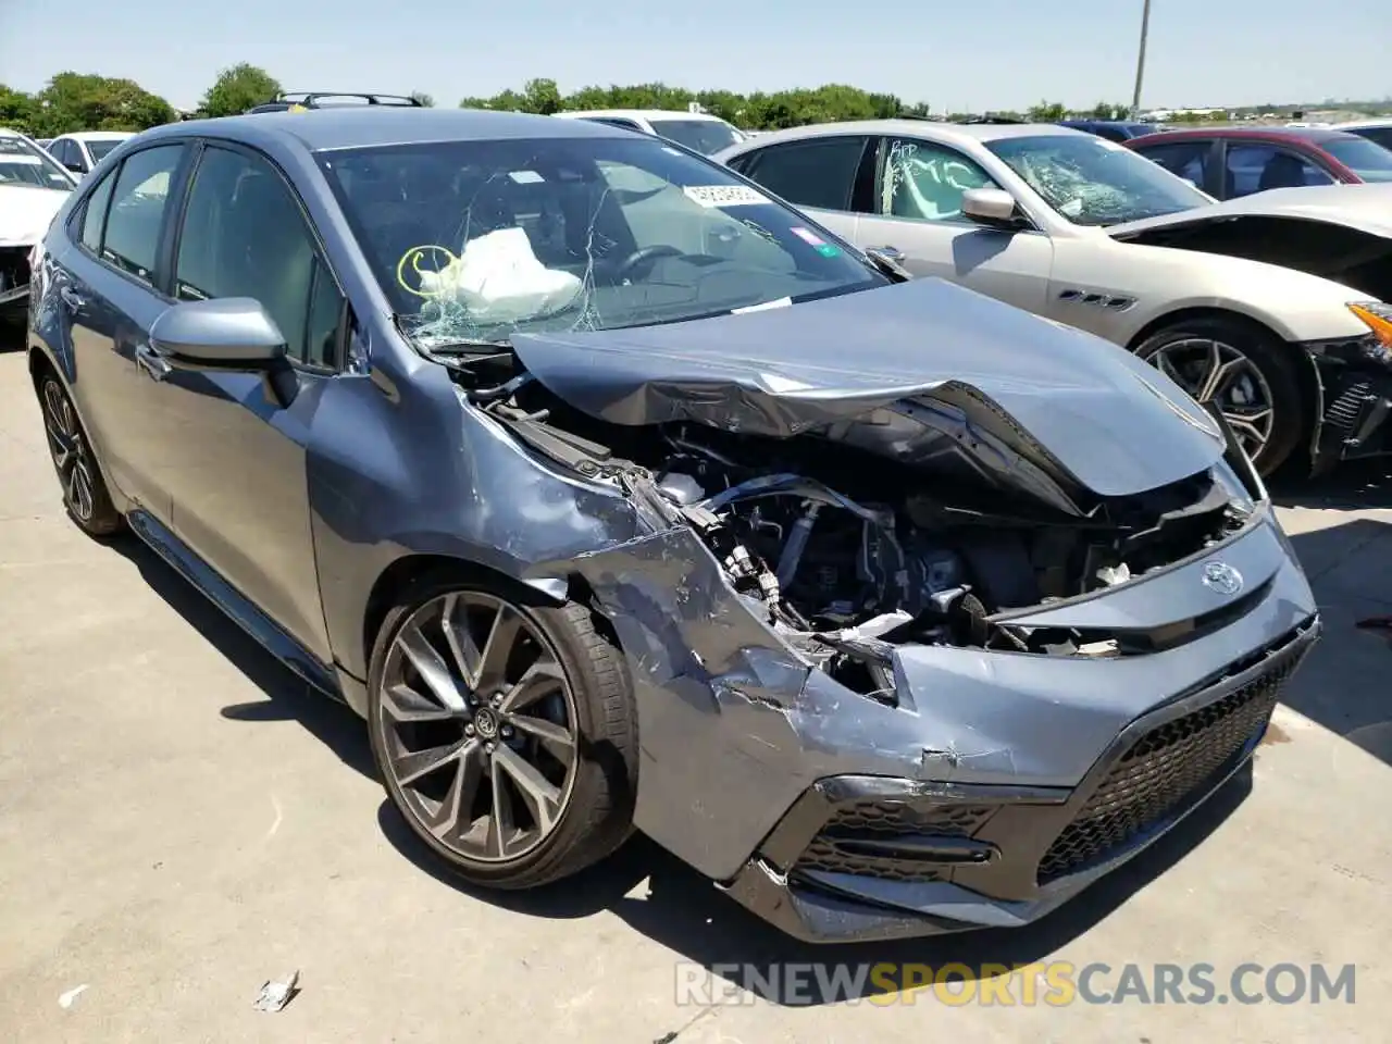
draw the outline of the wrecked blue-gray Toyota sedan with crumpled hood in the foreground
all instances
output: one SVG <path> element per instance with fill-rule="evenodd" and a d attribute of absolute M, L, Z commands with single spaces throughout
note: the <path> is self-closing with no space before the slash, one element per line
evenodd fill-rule
<path fill-rule="evenodd" d="M 814 941 L 1031 922 L 1320 631 L 1222 415 L 667 142 L 324 110 L 127 142 L 35 252 L 74 521 L 369 727 L 465 880 L 640 830 Z"/>

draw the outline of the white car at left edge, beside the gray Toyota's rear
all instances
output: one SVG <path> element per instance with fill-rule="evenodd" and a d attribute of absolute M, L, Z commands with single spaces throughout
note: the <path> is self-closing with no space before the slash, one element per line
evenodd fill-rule
<path fill-rule="evenodd" d="M 0 127 L 0 317 L 28 308 L 29 251 L 77 184 L 31 138 Z"/>

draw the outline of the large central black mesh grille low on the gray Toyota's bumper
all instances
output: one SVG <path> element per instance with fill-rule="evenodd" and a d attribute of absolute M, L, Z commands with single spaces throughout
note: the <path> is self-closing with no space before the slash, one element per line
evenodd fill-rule
<path fill-rule="evenodd" d="M 1040 860 L 1045 884 L 1105 859 L 1150 827 L 1196 800 L 1235 768 L 1243 748 L 1264 728 L 1297 657 L 1219 700 L 1143 734 L 1112 766 L 1101 786 Z"/>

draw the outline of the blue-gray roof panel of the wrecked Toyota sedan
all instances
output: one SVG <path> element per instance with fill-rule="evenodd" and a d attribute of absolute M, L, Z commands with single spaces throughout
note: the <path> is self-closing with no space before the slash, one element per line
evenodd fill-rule
<path fill-rule="evenodd" d="M 405 106 L 344 106 L 298 113 L 253 113 L 216 120 L 164 124 L 146 139 L 207 135 L 258 145 L 269 139 L 294 142 L 310 152 L 426 142 L 615 138 L 629 132 L 585 120 L 553 120 L 528 113 L 483 109 L 409 109 Z"/>

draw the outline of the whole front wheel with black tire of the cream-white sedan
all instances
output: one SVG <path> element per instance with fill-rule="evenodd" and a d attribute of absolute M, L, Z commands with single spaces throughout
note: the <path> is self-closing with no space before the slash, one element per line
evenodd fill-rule
<path fill-rule="evenodd" d="M 1257 470 L 1276 470 L 1308 430 L 1290 351 L 1237 319 L 1186 319 L 1150 335 L 1136 355 L 1199 402 L 1215 401 Z"/>

